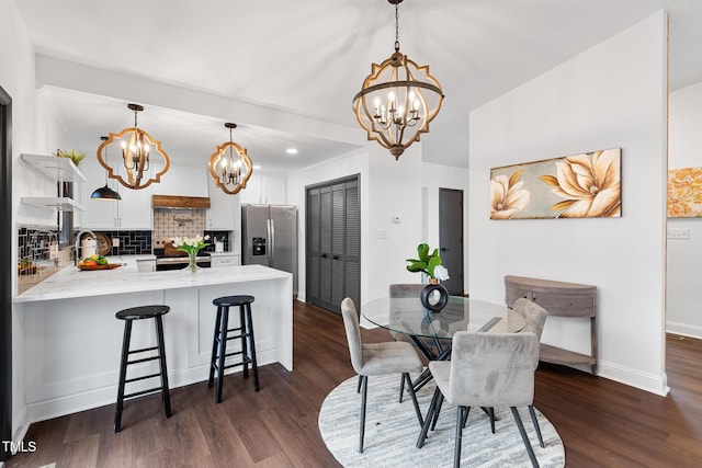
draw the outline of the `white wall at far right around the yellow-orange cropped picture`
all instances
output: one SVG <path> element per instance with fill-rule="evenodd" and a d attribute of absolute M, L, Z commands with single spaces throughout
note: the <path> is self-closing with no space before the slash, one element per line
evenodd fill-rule
<path fill-rule="evenodd" d="M 668 167 L 702 167 L 702 82 L 670 93 Z M 668 239 L 668 317 L 666 329 L 702 339 L 698 296 L 702 263 L 702 219 L 668 218 L 668 228 L 687 229 L 689 239 Z"/>

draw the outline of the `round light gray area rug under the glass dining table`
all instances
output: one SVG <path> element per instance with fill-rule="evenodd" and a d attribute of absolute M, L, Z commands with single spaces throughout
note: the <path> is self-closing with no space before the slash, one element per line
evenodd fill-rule
<path fill-rule="evenodd" d="M 319 432 L 327 448 L 344 467 L 450 467 L 453 465 L 456 410 L 444 401 L 434 431 L 422 448 L 417 448 L 419 422 L 409 396 L 398 402 L 399 375 L 369 377 L 365 441 L 359 449 L 361 395 L 356 392 L 358 376 L 352 377 L 327 396 L 319 411 Z M 433 384 L 417 393 L 422 414 L 427 413 L 434 391 Z M 531 467 L 526 448 L 509 408 L 495 409 L 495 434 L 490 421 L 480 409 L 471 409 L 463 431 L 462 467 Z M 529 415 L 520 409 L 534 454 L 543 468 L 565 466 L 563 442 L 551 422 L 536 410 L 545 448 L 539 440 Z"/>

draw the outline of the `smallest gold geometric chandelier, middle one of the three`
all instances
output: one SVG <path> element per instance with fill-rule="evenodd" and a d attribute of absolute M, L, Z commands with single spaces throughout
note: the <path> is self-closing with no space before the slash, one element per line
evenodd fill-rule
<path fill-rule="evenodd" d="M 224 126 L 229 128 L 229 141 L 217 146 L 207 165 L 215 184 L 225 193 L 235 195 L 241 189 L 246 189 L 253 169 L 246 148 L 241 148 L 231 139 L 231 130 L 237 127 L 237 124 L 227 122 Z"/>

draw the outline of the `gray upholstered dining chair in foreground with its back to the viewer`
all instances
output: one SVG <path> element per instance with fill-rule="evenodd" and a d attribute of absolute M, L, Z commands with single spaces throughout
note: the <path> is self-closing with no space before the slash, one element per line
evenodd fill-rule
<path fill-rule="evenodd" d="M 463 427 L 467 423 L 471 408 L 510 407 L 532 466 L 539 467 L 517 411 L 517 407 L 533 408 L 534 373 L 537 365 L 539 340 L 534 333 L 456 332 L 453 335 L 451 361 L 429 363 L 437 390 L 417 447 L 423 446 L 442 398 L 457 410 L 454 467 L 461 465 Z"/>

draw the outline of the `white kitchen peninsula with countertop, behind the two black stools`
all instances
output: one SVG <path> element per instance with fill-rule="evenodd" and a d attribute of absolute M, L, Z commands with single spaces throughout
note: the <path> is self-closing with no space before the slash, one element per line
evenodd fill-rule
<path fill-rule="evenodd" d="M 18 381 L 30 422 L 114 403 L 124 327 L 115 313 L 127 307 L 170 306 L 163 329 L 171 388 L 207 379 L 216 313 L 212 300 L 219 296 L 256 297 L 252 312 L 259 366 L 280 363 L 292 370 L 290 273 L 262 265 L 202 269 L 195 275 L 144 273 L 137 269 L 136 256 L 109 260 L 124 264 L 104 271 L 68 266 L 14 298 L 18 338 L 24 349 L 24 366 L 15 374 L 23 373 Z M 135 323 L 132 343 L 133 349 L 155 343 L 151 321 Z M 152 374 L 152 365 L 133 366 L 129 372 Z M 204 387 L 202 398 L 211 397 Z"/>

